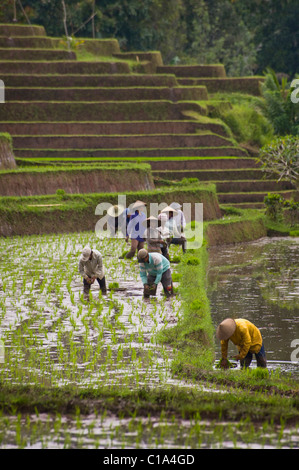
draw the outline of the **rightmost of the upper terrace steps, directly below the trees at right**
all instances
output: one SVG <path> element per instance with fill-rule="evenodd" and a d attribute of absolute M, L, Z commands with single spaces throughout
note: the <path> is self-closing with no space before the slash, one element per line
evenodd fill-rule
<path fill-rule="evenodd" d="M 207 87 L 208 93 L 241 92 L 260 95 L 260 83 L 265 77 L 218 77 L 218 78 L 177 78 L 180 85 Z"/>

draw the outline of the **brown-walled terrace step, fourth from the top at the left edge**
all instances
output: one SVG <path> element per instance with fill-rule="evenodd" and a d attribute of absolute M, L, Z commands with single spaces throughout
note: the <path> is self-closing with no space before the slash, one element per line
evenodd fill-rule
<path fill-rule="evenodd" d="M 71 54 L 71 53 L 70 53 Z M 0 74 L 113 74 L 130 73 L 127 62 L 92 62 L 76 60 L 22 61 L 7 60 L 0 62 Z"/>

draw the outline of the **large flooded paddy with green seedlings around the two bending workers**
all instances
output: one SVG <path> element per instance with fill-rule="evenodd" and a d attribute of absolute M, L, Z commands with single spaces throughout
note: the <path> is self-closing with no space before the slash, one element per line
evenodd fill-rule
<path fill-rule="evenodd" d="M 1 250 L 1 338 L 5 381 L 45 385 L 163 384 L 170 349 L 160 328 L 177 322 L 179 302 L 143 300 L 138 263 L 119 259 L 123 240 L 93 235 L 14 238 Z M 85 244 L 103 254 L 108 294 L 95 283 L 83 300 L 78 258 Z M 109 289 L 109 285 L 117 287 Z"/>

